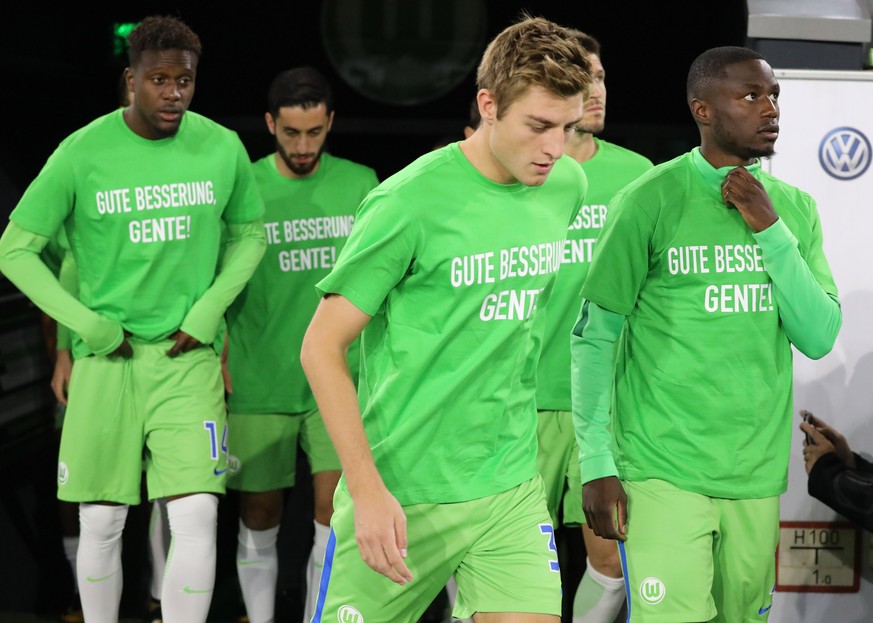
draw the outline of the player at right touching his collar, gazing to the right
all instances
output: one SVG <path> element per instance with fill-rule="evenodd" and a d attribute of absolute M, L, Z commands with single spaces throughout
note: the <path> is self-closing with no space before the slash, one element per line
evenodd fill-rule
<path fill-rule="evenodd" d="M 582 501 L 620 541 L 631 620 L 764 621 L 792 347 L 823 357 L 842 314 L 815 201 L 761 168 L 779 136 L 770 65 L 707 50 L 687 99 L 700 147 L 616 195 L 582 287 Z"/>

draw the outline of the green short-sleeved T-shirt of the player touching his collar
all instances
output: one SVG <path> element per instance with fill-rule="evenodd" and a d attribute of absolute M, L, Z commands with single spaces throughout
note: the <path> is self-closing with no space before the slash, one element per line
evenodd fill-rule
<path fill-rule="evenodd" d="M 814 200 L 748 167 L 825 292 L 837 289 Z M 699 149 L 656 166 L 610 203 L 583 297 L 628 316 L 613 426 L 625 480 L 712 497 L 787 485 L 792 350 L 761 249 Z M 583 465 L 584 472 L 584 465 Z"/>

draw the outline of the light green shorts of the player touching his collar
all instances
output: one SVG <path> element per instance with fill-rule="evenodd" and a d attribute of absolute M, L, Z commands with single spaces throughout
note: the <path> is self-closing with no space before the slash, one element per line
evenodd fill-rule
<path fill-rule="evenodd" d="M 776 585 L 779 498 L 728 500 L 662 480 L 623 482 L 620 544 L 629 620 L 766 621 Z"/>

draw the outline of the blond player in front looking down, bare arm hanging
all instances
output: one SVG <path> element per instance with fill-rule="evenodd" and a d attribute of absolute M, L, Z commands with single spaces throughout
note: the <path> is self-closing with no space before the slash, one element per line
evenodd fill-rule
<path fill-rule="evenodd" d="M 453 574 L 457 617 L 559 621 L 536 364 L 587 186 L 563 148 L 589 70 L 542 18 L 497 35 L 479 129 L 373 190 L 318 284 L 301 359 L 343 477 L 317 623 L 413 622 Z M 360 396 L 346 355 L 359 335 Z"/>

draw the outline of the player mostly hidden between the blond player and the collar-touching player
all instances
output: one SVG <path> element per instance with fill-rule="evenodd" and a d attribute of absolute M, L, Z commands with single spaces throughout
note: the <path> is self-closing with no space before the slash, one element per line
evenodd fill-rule
<path fill-rule="evenodd" d="M 606 72 L 600 59 L 600 43 L 579 30 L 572 33 L 588 52 L 594 82 L 585 100 L 582 122 L 567 140 L 564 153 L 582 165 L 588 176 L 588 194 L 567 232 L 564 262 L 549 303 L 537 371 L 537 463 L 552 521 L 562 518 L 566 526 L 582 526 L 586 571 L 573 601 L 573 623 L 612 623 L 625 603 L 621 561 L 615 541 L 595 535 L 582 513 L 579 447 L 570 407 L 568 336 L 579 313 L 579 291 L 591 265 L 607 204 L 616 192 L 653 165 L 645 156 L 597 138 L 606 124 Z"/>

